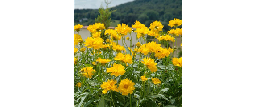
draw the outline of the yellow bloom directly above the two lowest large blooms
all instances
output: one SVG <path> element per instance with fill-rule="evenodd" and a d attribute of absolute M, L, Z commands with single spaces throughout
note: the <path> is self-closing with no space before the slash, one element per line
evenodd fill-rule
<path fill-rule="evenodd" d="M 121 64 L 114 63 L 113 67 L 107 68 L 107 73 L 110 73 L 110 75 L 115 75 L 116 77 L 119 75 L 124 75 L 125 70 L 124 66 Z"/>

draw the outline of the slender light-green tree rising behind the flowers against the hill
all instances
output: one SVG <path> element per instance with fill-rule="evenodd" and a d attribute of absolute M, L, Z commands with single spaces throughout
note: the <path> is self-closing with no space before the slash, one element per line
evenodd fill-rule
<path fill-rule="evenodd" d="M 111 22 L 111 13 L 115 12 L 116 10 L 110 10 L 110 8 L 108 8 L 108 4 L 111 3 L 108 2 L 108 0 L 105 0 L 105 3 L 107 4 L 107 8 L 104 9 L 102 5 L 100 6 L 99 15 L 97 18 L 95 18 L 95 23 L 103 23 L 105 27 L 108 28 Z"/>

